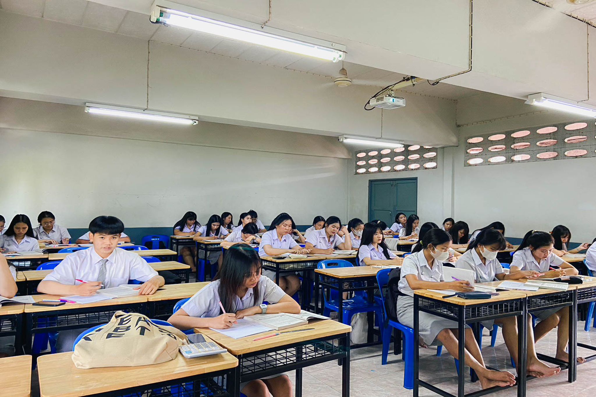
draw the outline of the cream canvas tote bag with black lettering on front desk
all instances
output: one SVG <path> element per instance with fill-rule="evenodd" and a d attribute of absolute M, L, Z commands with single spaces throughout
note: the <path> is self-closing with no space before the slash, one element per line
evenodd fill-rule
<path fill-rule="evenodd" d="M 109 323 L 79 340 L 72 359 L 77 368 L 159 364 L 173 360 L 186 338 L 175 327 L 157 325 L 145 315 L 117 311 Z"/>

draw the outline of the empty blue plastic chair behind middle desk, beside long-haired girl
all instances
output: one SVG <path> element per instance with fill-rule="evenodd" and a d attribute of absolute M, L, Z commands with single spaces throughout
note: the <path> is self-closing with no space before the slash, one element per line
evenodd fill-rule
<path fill-rule="evenodd" d="M 353 265 L 345 260 L 324 260 L 320 261 L 316 267 L 319 269 L 326 269 L 326 268 L 338 268 L 338 267 L 352 267 Z M 329 316 L 331 311 L 338 311 L 339 312 L 339 293 L 336 290 L 331 290 L 329 295 L 329 301 L 327 301 L 327 296 L 323 293 L 323 301 L 324 301 L 324 309 L 323 315 Z M 369 303 L 362 298 L 356 299 L 346 299 L 342 302 L 342 322 L 344 324 L 350 325 L 352 320 L 352 316 L 354 314 L 362 313 L 362 312 L 370 312 L 373 311 L 376 314 L 377 318 L 377 325 L 379 329 L 383 328 L 382 323 L 382 316 L 381 316 L 381 307 L 376 302 Z M 372 330 L 369 330 L 372 332 Z"/>

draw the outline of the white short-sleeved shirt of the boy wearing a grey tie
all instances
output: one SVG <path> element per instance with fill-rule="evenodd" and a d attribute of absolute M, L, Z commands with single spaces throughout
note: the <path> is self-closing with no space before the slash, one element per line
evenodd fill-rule
<path fill-rule="evenodd" d="M 141 255 L 135 254 L 134 251 L 116 248 L 106 259 L 108 261 L 105 264 L 105 288 L 128 284 L 128 280 L 146 282 L 157 276 L 157 271 L 153 270 L 147 261 L 141 258 Z M 80 283 L 76 279 L 97 280 L 101 260 L 102 258 L 93 247 L 81 249 L 66 255 L 66 258 L 52 270 L 52 273 L 45 276 L 44 281 L 79 285 Z"/>

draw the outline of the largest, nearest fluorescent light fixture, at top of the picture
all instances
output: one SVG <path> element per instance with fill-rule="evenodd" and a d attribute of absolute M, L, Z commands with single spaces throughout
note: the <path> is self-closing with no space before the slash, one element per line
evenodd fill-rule
<path fill-rule="evenodd" d="M 195 32 L 333 62 L 343 60 L 345 54 L 345 46 L 337 43 L 297 35 L 165 0 L 157 0 L 153 3 L 150 20 L 153 23 L 182 27 Z"/>

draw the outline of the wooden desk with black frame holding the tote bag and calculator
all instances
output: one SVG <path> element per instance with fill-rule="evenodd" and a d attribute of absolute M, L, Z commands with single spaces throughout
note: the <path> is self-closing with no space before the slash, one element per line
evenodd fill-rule
<path fill-rule="evenodd" d="M 195 385 L 198 385 L 201 380 L 213 381 L 206 382 L 209 385 L 205 390 L 207 395 L 225 396 L 223 378 L 229 379 L 232 368 L 238 365 L 238 359 L 229 353 L 197 358 L 185 358 L 178 354 L 174 360 L 161 364 L 80 369 L 75 367 L 71 356 L 72 352 L 65 352 L 38 358 L 42 397 L 78 397 L 101 393 L 120 395 L 116 391 L 124 392 L 125 389 L 123 394 L 150 395 L 154 389 L 187 382 L 196 382 Z M 198 393 L 197 390 L 193 392 Z M 189 391 L 188 395 L 193 392 Z"/>

